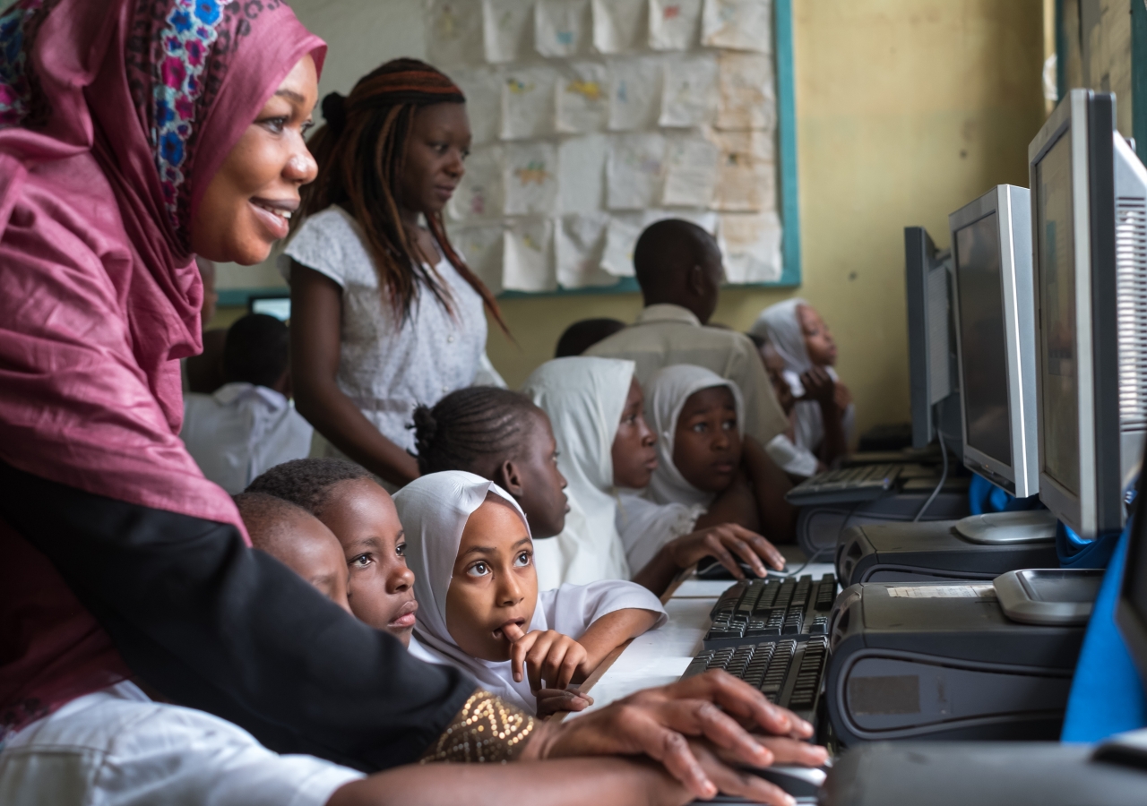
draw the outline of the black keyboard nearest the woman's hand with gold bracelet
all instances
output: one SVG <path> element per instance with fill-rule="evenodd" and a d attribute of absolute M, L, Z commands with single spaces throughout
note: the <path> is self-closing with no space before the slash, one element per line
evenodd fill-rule
<path fill-rule="evenodd" d="M 723 668 L 764 694 L 768 702 L 817 723 L 817 706 L 828 660 L 828 636 L 744 641 L 720 649 L 703 649 L 681 680 L 711 668 Z"/>

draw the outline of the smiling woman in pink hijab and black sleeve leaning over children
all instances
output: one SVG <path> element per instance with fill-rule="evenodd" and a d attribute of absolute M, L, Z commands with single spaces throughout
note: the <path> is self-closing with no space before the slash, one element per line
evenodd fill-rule
<path fill-rule="evenodd" d="M 273 751 L 360 770 L 647 752 L 684 783 L 568 760 L 336 774 L 315 803 L 335 784 L 331 804 L 404 782 L 602 804 L 719 785 L 780 803 L 705 748 L 758 766 L 820 759 L 791 738 L 811 728 L 759 692 L 701 675 L 536 722 L 252 550 L 188 456 L 178 359 L 201 346 L 195 255 L 252 264 L 286 235 L 314 178 L 303 133 L 325 54 L 280 0 L 21 0 L 0 14 L 0 799 L 19 777 L 13 748 L 136 680 Z M 713 703 L 779 736 L 750 737 Z"/>

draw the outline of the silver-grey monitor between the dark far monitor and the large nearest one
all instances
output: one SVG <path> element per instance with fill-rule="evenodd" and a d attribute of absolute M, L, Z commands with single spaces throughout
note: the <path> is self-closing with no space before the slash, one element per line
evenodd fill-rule
<path fill-rule="evenodd" d="M 1028 498 L 1039 488 L 1028 189 L 999 185 L 949 226 L 963 463 Z"/>

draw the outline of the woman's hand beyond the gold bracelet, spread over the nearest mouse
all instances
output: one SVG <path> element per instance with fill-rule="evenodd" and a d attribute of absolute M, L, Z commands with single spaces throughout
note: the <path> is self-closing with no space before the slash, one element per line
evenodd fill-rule
<path fill-rule="evenodd" d="M 712 798 L 728 788 L 733 795 L 787 804 L 780 790 L 748 781 L 728 765 L 821 765 L 825 749 L 802 741 L 811 736 L 811 725 L 751 686 L 725 672 L 707 672 L 638 691 L 575 720 L 544 722 L 522 759 L 643 753 L 695 797 Z M 690 738 L 705 744 L 690 745 Z"/>

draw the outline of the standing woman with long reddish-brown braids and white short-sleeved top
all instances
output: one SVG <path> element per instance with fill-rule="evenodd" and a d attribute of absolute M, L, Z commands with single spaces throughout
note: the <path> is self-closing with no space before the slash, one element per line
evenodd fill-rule
<path fill-rule="evenodd" d="M 442 210 L 466 172 L 462 91 L 399 58 L 322 101 L 319 175 L 280 258 L 291 287 L 291 377 L 321 453 L 348 456 L 390 492 L 418 477 L 418 405 L 505 386 L 486 358 L 498 304 L 454 251 Z"/>

